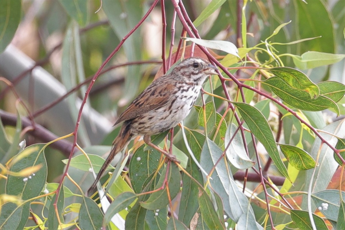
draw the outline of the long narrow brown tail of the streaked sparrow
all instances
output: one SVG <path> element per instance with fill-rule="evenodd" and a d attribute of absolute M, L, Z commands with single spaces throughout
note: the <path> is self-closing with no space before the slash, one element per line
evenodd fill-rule
<path fill-rule="evenodd" d="M 115 140 L 112 142 L 112 149 L 107 157 L 106 161 L 103 163 L 101 169 L 99 170 L 95 182 L 89 188 L 89 192 L 93 191 L 96 188 L 96 184 L 99 179 L 102 177 L 102 174 L 107 170 L 110 162 L 114 159 L 115 155 L 126 148 L 127 144 L 130 142 L 132 138 L 130 123 L 125 122 Z"/>

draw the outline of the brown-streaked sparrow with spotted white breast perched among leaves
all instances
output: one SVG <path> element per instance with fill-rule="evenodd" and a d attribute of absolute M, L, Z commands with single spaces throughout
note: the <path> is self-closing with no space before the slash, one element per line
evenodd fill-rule
<path fill-rule="evenodd" d="M 152 144 L 150 136 L 175 127 L 187 117 L 199 95 L 201 85 L 209 74 L 217 74 L 216 69 L 203 58 L 187 58 L 177 64 L 169 74 L 157 78 L 142 91 L 114 124 L 115 126 L 124 122 L 89 191 L 96 187 L 115 154 L 126 148 L 137 136 L 144 136 L 145 143 L 164 153 L 168 159 L 176 161 L 174 155 Z"/>

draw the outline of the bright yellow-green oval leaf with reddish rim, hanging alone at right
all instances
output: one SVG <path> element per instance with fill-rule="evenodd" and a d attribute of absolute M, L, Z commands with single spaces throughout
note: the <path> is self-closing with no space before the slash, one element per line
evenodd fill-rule
<path fill-rule="evenodd" d="M 288 162 L 298 170 L 308 170 L 315 167 L 315 160 L 303 149 L 289 144 L 279 144 Z"/>

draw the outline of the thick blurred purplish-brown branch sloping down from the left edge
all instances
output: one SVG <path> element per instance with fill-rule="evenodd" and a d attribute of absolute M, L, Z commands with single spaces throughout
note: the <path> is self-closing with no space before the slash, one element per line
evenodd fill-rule
<path fill-rule="evenodd" d="M 8 113 L 3 110 L 0 110 L 0 117 L 4 125 L 16 126 L 17 124 L 16 114 Z M 22 129 L 32 127 L 31 121 L 26 117 L 22 117 L 21 122 L 22 122 Z M 38 138 L 44 143 L 58 138 L 58 136 L 56 136 L 54 133 L 50 132 L 49 130 L 47 130 L 46 128 L 44 128 L 43 126 L 37 123 L 35 127 L 34 128 L 32 127 L 32 130 L 29 130 L 27 133 L 33 137 Z M 73 145 L 71 142 L 67 140 L 59 140 L 59 141 L 51 143 L 49 146 L 54 149 L 60 150 L 64 156 L 68 157 L 69 153 L 72 150 Z M 73 152 L 76 152 L 76 151 L 77 151 L 77 148 L 74 148 Z"/>

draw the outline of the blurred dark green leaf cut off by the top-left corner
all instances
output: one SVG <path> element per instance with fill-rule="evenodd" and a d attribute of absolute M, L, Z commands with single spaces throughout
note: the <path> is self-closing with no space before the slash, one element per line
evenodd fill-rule
<path fill-rule="evenodd" d="M 0 53 L 10 44 L 20 22 L 21 0 L 0 1 Z"/>

